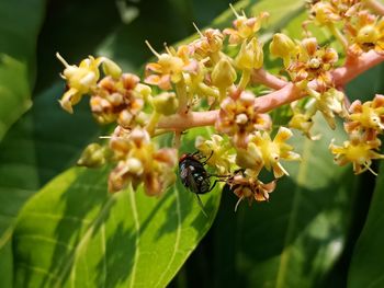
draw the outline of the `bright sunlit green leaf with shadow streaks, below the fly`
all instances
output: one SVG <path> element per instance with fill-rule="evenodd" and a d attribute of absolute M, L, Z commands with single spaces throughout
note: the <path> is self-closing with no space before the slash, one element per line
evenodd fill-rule
<path fill-rule="evenodd" d="M 108 195 L 106 171 L 71 169 L 22 210 L 14 231 L 16 287 L 163 287 L 211 227 L 180 182 L 161 198 Z"/>

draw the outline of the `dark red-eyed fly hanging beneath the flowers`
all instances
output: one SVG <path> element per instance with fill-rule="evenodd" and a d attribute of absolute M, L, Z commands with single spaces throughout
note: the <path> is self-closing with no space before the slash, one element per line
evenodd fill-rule
<path fill-rule="evenodd" d="M 213 153 L 213 151 L 212 151 Z M 196 195 L 199 206 L 202 208 L 203 214 L 207 217 L 204 211 L 204 206 L 200 199 L 200 194 L 211 192 L 219 180 L 216 180 L 211 186 L 211 176 L 215 176 L 206 172 L 204 165 L 210 160 L 211 155 L 205 160 L 201 161 L 204 157 L 199 155 L 199 152 L 185 153 L 179 160 L 179 173 L 181 183 Z"/>

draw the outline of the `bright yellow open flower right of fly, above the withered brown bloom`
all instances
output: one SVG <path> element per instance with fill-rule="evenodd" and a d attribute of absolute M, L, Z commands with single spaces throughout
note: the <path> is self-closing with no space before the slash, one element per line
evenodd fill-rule
<path fill-rule="evenodd" d="M 281 165 L 281 160 L 297 161 L 300 154 L 293 152 L 293 147 L 285 143 L 292 137 L 292 131 L 285 127 L 280 127 L 274 139 L 264 131 L 257 131 L 249 137 L 247 150 L 239 149 L 236 163 L 246 169 L 246 173 L 251 176 L 258 176 L 264 166 L 268 171 L 272 169 L 273 175 L 278 178 L 289 175 L 286 170 Z"/>

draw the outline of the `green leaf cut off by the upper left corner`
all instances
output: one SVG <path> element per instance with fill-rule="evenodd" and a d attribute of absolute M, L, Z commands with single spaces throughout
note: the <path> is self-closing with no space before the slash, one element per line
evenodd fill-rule
<path fill-rule="evenodd" d="M 0 2 L 0 140 L 31 107 L 34 54 L 44 5 L 43 0 Z"/>

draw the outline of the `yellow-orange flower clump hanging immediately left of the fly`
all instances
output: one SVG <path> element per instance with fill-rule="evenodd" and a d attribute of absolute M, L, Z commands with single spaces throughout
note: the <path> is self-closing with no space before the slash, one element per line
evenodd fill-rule
<path fill-rule="evenodd" d="M 117 192 L 132 184 L 133 188 L 144 183 L 149 196 L 162 194 L 176 181 L 177 150 L 156 149 L 145 129 L 132 131 L 117 127 L 110 147 L 118 161 L 109 177 L 109 191 Z"/>

